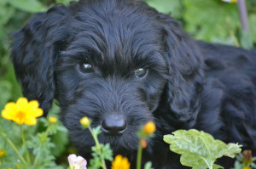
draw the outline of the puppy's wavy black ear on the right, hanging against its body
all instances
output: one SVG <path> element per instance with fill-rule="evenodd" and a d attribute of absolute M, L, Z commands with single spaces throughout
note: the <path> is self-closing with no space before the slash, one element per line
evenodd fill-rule
<path fill-rule="evenodd" d="M 161 14 L 160 21 L 170 74 L 166 89 L 167 102 L 177 121 L 191 121 L 200 107 L 198 93 L 203 76 L 201 52 L 177 20 Z"/>

